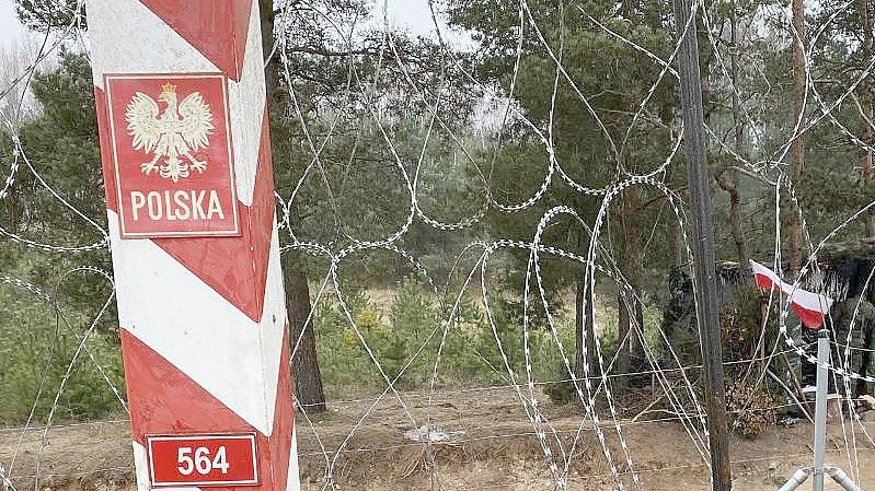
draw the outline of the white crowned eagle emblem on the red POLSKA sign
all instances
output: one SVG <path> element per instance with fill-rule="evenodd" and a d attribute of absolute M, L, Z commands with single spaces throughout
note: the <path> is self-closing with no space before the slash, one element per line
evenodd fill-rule
<path fill-rule="evenodd" d="M 134 137 L 134 150 L 142 149 L 147 155 L 154 154 L 150 162 L 140 165 L 140 169 L 147 176 L 158 171 L 161 177 L 174 183 L 188 177 L 189 169 L 203 174 L 207 162 L 198 161 L 193 153 L 209 147 L 208 137 L 215 129 L 209 105 L 199 92 L 177 102 L 176 85 L 170 83 L 161 85 L 158 100 L 166 104 L 163 113 L 160 113 L 158 103 L 142 92 L 134 94 L 125 109 L 128 135 Z"/>

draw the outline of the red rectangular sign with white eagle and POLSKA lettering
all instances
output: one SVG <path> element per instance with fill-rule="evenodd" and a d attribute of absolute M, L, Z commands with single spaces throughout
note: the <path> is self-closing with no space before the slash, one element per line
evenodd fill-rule
<path fill-rule="evenodd" d="M 105 82 L 122 237 L 239 235 L 226 77 Z"/>

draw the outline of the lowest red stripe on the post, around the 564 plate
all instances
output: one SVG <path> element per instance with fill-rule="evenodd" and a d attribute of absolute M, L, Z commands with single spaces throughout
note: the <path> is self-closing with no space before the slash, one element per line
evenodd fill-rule
<path fill-rule="evenodd" d="M 166 359 L 122 329 L 125 377 L 135 382 L 128 384 L 127 394 L 133 440 L 145 446 L 146 435 L 150 434 L 255 433 L 262 484 L 244 489 L 285 491 L 295 422 L 287 336 L 288 334 L 283 340 L 279 359 L 274 431 L 267 437 Z M 253 397 L 260 395 L 253 394 Z M 277 484 L 276 488 L 274 483 Z"/>

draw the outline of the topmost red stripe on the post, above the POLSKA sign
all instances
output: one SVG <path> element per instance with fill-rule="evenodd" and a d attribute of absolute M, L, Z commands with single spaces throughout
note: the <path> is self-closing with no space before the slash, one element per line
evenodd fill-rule
<path fill-rule="evenodd" d="M 254 0 L 140 1 L 222 73 L 240 81 Z"/>

